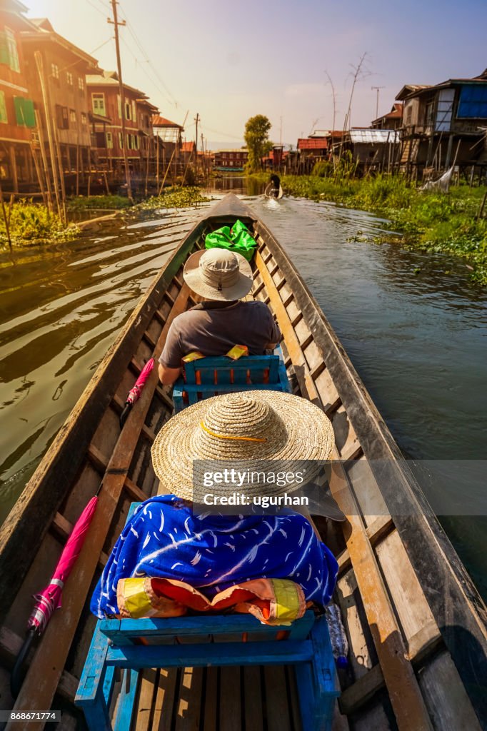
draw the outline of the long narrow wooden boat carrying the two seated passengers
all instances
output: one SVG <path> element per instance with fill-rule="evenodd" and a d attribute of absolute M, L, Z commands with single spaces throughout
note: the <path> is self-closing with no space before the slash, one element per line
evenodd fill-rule
<path fill-rule="evenodd" d="M 62 609 L 29 658 L 14 706 L 61 709 L 60 729 L 82 724 L 72 701 L 94 628 L 87 598 L 129 504 L 156 491 L 150 447 L 170 418 L 170 392 L 151 379 L 122 431 L 118 416 L 144 361 L 159 355 L 174 317 L 194 303 L 182 278 L 186 257 L 202 246 L 205 232 L 236 217 L 258 242 L 252 292 L 278 319 L 293 389 L 329 415 L 336 456 L 345 461 L 333 471 L 331 491 L 348 520 L 329 524 L 326 537 L 339 558 L 336 602 L 350 643 L 335 728 L 485 728 L 486 606 L 319 306 L 265 224 L 233 194 L 208 211 L 156 277 L 1 528 L 3 707 L 12 708 L 9 674 L 31 595 L 48 583 L 72 524 L 102 480 Z M 24 725 L 42 727 L 17 722 L 15 729 Z M 135 728 L 297 730 L 292 673 L 286 667 L 147 672 Z"/>

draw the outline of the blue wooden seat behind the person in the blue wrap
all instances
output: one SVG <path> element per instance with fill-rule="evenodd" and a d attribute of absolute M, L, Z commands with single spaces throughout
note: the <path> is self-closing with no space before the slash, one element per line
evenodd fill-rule
<path fill-rule="evenodd" d="M 294 666 L 303 731 L 331 731 L 339 685 L 328 624 L 311 610 L 287 626 L 242 614 L 98 620 L 75 704 L 90 731 L 129 731 L 144 669 L 273 664 Z"/>

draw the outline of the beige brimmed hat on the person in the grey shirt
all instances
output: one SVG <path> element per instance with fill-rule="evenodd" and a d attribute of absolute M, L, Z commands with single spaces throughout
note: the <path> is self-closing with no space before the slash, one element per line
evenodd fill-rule
<path fill-rule="evenodd" d="M 252 289 L 252 267 L 227 249 L 196 251 L 184 265 L 184 281 L 197 295 L 211 300 L 241 300 Z"/>

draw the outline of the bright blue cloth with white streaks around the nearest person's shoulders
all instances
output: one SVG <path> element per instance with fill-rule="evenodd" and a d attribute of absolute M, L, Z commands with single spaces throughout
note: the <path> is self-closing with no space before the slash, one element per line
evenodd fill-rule
<path fill-rule="evenodd" d="M 178 579 L 211 599 L 229 586 L 260 577 L 289 578 L 306 599 L 326 605 L 338 564 L 302 515 L 193 515 L 175 495 L 146 500 L 127 522 L 91 598 L 99 618 L 118 613 L 118 580 Z"/>

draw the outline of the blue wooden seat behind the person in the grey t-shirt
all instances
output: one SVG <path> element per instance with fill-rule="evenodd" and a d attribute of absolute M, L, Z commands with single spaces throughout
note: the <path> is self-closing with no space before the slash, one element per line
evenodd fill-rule
<path fill-rule="evenodd" d="M 260 389 L 290 393 L 280 346 L 273 355 L 244 355 L 238 360 L 219 355 L 185 363 L 184 378 L 178 378 L 173 389 L 174 412 L 221 393 Z"/>

